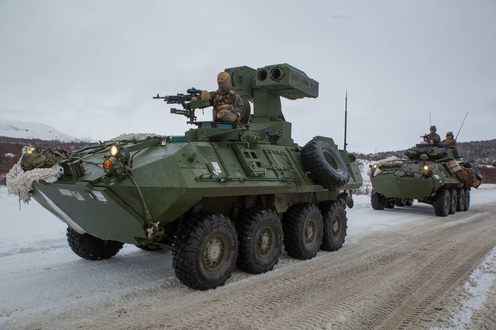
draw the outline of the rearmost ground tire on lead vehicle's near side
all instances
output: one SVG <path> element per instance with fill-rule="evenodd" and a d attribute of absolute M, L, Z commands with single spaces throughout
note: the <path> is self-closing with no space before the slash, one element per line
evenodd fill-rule
<path fill-rule="evenodd" d="M 346 237 L 347 219 L 343 205 L 336 200 L 326 200 L 318 205 L 322 214 L 323 235 L 320 249 L 335 251 L 341 248 Z"/>

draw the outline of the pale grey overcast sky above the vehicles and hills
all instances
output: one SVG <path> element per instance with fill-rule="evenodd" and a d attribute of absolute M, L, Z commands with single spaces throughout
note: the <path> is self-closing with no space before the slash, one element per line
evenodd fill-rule
<path fill-rule="evenodd" d="M 467 111 L 458 141 L 496 139 L 496 0 L 0 0 L 0 119 L 74 137 L 182 135 L 153 95 L 278 63 L 319 82 L 283 100 L 300 145 L 343 147 L 346 91 L 350 151 L 411 147 L 430 116 L 456 135 Z"/>

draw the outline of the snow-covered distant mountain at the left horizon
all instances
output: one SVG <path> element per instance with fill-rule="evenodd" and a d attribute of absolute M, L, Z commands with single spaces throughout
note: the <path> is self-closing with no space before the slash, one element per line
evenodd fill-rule
<path fill-rule="evenodd" d="M 42 123 L 32 123 L 14 120 L 0 120 L 0 137 L 58 140 L 63 142 L 93 142 L 89 138 L 74 138 L 57 131 L 52 126 Z"/>

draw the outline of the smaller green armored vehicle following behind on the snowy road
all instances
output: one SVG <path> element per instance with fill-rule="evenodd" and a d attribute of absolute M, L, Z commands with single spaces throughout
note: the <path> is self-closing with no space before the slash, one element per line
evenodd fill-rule
<path fill-rule="evenodd" d="M 414 199 L 433 205 L 441 217 L 469 209 L 470 189 L 479 187 L 482 176 L 471 162 L 461 161 L 458 149 L 418 143 L 405 156 L 370 165 L 374 210 L 412 205 Z"/>

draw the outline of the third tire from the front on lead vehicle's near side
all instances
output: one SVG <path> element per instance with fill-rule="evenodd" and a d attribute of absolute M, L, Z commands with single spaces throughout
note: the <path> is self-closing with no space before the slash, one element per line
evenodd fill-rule
<path fill-rule="evenodd" d="M 298 203 L 284 214 L 284 250 L 296 259 L 313 258 L 322 243 L 322 216 L 310 203 Z"/>

